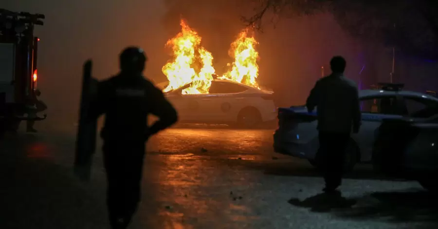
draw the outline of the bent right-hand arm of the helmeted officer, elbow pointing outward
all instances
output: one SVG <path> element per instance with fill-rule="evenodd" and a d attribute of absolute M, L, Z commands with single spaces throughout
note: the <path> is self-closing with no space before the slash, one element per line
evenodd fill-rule
<path fill-rule="evenodd" d="M 152 86 L 151 91 L 151 113 L 156 115 L 159 120 L 149 128 L 148 135 L 156 134 L 178 121 L 177 111 L 164 97 L 163 92 L 155 86 Z"/>

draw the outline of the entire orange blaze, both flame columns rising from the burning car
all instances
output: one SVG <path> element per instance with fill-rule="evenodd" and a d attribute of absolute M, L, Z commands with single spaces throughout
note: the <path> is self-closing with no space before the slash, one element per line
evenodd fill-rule
<path fill-rule="evenodd" d="M 166 43 L 166 46 L 172 47 L 173 58 L 162 69 L 169 81 L 163 92 L 192 83 L 190 87 L 183 90 L 183 94 L 208 94 L 216 72 L 213 67 L 213 56 L 201 46 L 201 37 L 198 33 L 183 20 L 181 27 L 182 31 Z M 219 78 L 259 88 L 256 81 L 258 53 L 255 46 L 257 44 L 254 37 L 248 36 L 248 30 L 243 30 L 231 44 L 229 51 L 234 62 L 228 64 L 230 70 Z"/>

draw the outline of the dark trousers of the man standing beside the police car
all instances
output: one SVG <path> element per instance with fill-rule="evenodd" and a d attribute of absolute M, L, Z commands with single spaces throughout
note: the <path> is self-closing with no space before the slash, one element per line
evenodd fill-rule
<path fill-rule="evenodd" d="M 324 180 L 329 189 L 336 189 L 342 184 L 345 153 L 349 139 L 349 133 L 319 132 L 319 150 L 322 153 Z"/>

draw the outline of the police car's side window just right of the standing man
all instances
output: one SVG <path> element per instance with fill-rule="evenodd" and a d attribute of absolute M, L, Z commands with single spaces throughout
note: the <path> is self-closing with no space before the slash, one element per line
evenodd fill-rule
<path fill-rule="evenodd" d="M 396 101 L 395 96 L 363 98 L 361 99 L 361 111 L 383 115 L 402 115 Z"/>

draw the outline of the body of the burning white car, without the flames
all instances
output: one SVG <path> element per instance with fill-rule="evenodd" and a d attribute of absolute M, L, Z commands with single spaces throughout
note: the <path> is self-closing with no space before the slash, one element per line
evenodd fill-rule
<path fill-rule="evenodd" d="M 275 120 L 273 92 L 226 79 L 214 79 L 208 94 L 183 95 L 191 83 L 165 93 L 180 123 L 237 124 L 253 128 Z"/>

